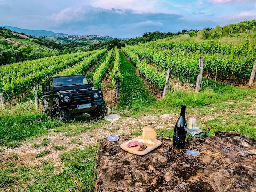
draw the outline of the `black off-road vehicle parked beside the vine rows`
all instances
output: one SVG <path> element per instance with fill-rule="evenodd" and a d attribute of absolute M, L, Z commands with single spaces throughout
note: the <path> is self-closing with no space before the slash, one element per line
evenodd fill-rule
<path fill-rule="evenodd" d="M 101 89 L 91 89 L 86 75 L 51 76 L 42 84 L 43 113 L 62 121 L 69 115 L 89 113 L 101 119 L 106 109 Z"/>

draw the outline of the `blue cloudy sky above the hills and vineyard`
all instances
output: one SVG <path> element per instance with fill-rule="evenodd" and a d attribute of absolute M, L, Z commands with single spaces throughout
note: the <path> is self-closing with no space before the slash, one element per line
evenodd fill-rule
<path fill-rule="evenodd" d="M 140 37 L 256 18 L 256 0 L 0 0 L 0 25 L 71 35 Z"/>

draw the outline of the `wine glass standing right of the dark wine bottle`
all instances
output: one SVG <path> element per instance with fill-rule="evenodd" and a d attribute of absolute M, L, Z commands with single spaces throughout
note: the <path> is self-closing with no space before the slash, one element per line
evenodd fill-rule
<path fill-rule="evenodd" d="M 201 124 L 200 117 L 198 117 L 198 116 L 189 116 L 188 119 L 187 119 L 187 122 L 185 124 L 185 130 L 188 133 L 191 133 L 192 140 L 193 140 L 192 150 L 188 150 L 187 154 L 192 155 L 192 156 L 200 155 L 199 151 L 194 150 L 194 136 L 197 133 L 200 133 L 202 131 L 202 124 Z"/>

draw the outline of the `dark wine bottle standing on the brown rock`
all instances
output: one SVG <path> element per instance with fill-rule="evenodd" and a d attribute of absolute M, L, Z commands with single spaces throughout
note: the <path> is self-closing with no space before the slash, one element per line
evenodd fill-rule
<path fill-rule="evenodd" d="M 181 105 L 180 117 L 178 118 L 178 121 L 174 127 L 173 146 L 176 148 L 184 148 L 185 147 L 185 140 L 186 140 L 186 134 L 187 134 L 187 132 L 185 131 L 186 106 L 187 106 L 186 104 Z"/>

